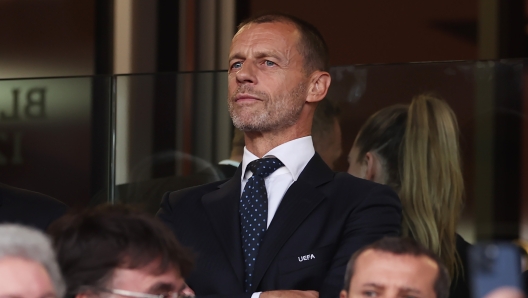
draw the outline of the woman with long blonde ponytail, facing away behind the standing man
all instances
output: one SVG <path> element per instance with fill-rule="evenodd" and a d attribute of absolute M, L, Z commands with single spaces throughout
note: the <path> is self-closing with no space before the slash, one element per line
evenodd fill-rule
<path fill-rule="evenodd" d="M 410 105 L 384 108 L 367 120 L 348 156 L 348 172 L 399 194 L 402 236 L 435 252 L 451 275 L 450 297 L 466 298 L 469 244 L 456 234 L 464 195 L 458 133 L 445 101 L 416 96 Z"/>

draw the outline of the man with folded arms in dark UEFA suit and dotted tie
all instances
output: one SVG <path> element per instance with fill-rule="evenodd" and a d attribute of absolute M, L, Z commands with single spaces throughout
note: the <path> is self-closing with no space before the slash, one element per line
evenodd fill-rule
<path fill-rule="evenodd" d="M 197 255 L 197 297 L 337 297 L 352 253 L 399 233 L 389 188 L 334 173 L 310 130 L 330 85 L 312 25 L 264 15 L 239 27 L 228 106 L 245 133 L 235 176 L 168 193 L 158 216 Z"/>

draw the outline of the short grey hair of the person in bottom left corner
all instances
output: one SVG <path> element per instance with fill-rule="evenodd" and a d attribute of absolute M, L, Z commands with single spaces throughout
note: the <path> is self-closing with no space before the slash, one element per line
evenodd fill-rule
<path fill-rule="evenodd" d="M 41 264 L 51 279 L 57 297 L 62 298 L 66 285 L 50 239 L 42 232 L 17 224 L 0 225 L 0 260 L 18 257 Z"/>

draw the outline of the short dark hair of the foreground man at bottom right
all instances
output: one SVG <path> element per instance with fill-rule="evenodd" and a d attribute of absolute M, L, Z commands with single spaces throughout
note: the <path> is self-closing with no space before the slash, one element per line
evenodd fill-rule
<path fill-rule="evenodd" d="M 436 298 L 448 298 L 449 297 L 449 285 L 451 279 L 449 278 L 449 273 L 447 268 L 442 264 L 440 259 L 429 251 L 427 248 L 417 243 L 416 241 L 410 238 L 398 238 L 398 237 L 385 237 L 381 240 L 378 240 L 371 245 L 365 246 L 362 249 L 356 251 L 350 261 L 345 272 L 345 285 L 344 290 L 350 290 L 350 282 L 354 276 L 354 267 L 356 260 L 359 256 L 367 250 L 374 250 L 379 252 L 391 253 L 394 255 L 407 255 L 421 257 L 425 256 L 433 260 L 438 266 L 438 276 L 434 284 L 434 291 L 436 293 Z"/>

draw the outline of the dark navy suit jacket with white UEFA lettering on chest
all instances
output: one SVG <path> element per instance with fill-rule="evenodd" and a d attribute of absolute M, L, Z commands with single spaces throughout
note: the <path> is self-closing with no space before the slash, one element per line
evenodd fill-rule
<path fill-rule="evenodd" d="M 334 173 L 316 153 L 284 195 L 259 249 L 254 288 L 245 293 L 241 171 L 239 167 L 230 180 L 163 197 L 158 217 L 196 253 L 187 283 L 198 297 L 250 297 L 291 289 L 335 298 L 350 256 L 384 235 L 399 234 L 401 204 L 392 190 Z"/>

